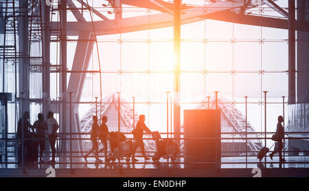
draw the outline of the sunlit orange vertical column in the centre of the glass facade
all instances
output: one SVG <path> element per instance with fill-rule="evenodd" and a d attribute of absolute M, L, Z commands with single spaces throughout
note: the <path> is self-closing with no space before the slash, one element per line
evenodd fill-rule
<path fill-rule="evenodd" d="M 181 0 L 174 0 L 174 133 L 180 146 L 181 133 Z"/>

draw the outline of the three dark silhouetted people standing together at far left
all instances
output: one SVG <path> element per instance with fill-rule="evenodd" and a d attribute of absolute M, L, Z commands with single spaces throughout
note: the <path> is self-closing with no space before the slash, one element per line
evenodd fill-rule
<path fill-rule="evenodd" d="M 55 163 L 56 157 L 56 139 L 59 128 L 58 122 L 54 118 L 54 113 L 47 113 L 47 120 L 44 120 L 43 113 L 38 113 L 38 120 L 34 124 L 29 122 L 30 113 L 25 111 L 23 117 L 17 124 L 16 137 L 19 140 L 19 162 L 22 160 L 24 153 L 25 161 L 43 163 L 43 152 L 45 150 L 45 141 L 49 140 L 49 145 L 52 150 L 52 160 L 49 163 Z M 22 149 L 24 148 L 24 152 Z M 38 161 L 38 148 L 40 150 Z"/>

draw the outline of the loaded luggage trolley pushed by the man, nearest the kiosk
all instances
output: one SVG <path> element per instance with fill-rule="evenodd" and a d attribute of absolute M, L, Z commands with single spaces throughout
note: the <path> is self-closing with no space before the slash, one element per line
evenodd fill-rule
<path fill-rule="evenodd" d="M 152 133 L 155 139 L 157 153 L 152 157 L 152 161 L 159 161 L 161 157 L 163 159 L 172 159 L 175 161 L 176 155 L 179 153 L 178 145 L 173 139 L 161 139 L 158 131 Z"/>

